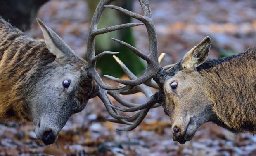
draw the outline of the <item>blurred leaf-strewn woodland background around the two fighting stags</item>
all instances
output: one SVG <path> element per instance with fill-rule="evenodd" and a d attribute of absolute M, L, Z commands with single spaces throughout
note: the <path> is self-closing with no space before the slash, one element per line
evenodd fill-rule
<path fill-rule="evenodd" d="M 90 19 L 97 0 L 0 0 L 0 15 L 35 38 L 43 38 L 35 18 L 52 28 L 80 57 L 86 57 L 86 42 Z M 120 1 L 120 0 L 119 0 Z M 159 54 L 166 53 L 163 65 L 178 62 L 205 36 L 212 39 L 211 58 L 240 53 L 256 43 L 255 0 L 149 0 L 155 21 Z M 24 4 L 25 2 L 25 4 Z M 116 5 L 142 14 L 137 0 L 125 0 Z M 11 6 L 11 7 L 9 7 Z M 8 8 L 9 7 L 9 8 Z M 137 22 L 107 9 L 100 28 L 105 25 Z M 5 15 L 7 12 L 7 15 Z M 121 58 L 137 75 L 143 73 L 145 62 L 109 39 L 125 40 L 142 52 L 148 52 L 145 27 L 107 34 L 97 38 L 96 50 L 120 51 Z M 123 76 L 112 57 L 99 62 L 100 73 Z M 113 65 L 113 66 L 111 66 Z M 125 78 L 125 76 L 123 76 Z M 115 83 L 106 80 L 111 85 Z M 145 102 L 141 94 L 125 96 L 135 102 Z M 113 100 L 114 101 L 114 100 Z M 118 104 L 115 102 L 115 104 Z M 124 115 L 129 115 L 124 113 Z M 212 123 L 206 123 L 194 138 L 179 145 L 173 142 L 171 123 L 163 108 L 155 108 L 133 131 L 116 131 L 120 124 L 106 122 L 103 103 L 90 99 L 85 110 L 73 115 L 61 131 L 57 142 L 43 146 L 36 139 L 32 123 L 0 124 L 0 155 L 104 155 L 104 156 L 236 156 L 255 155 L 256 137 L 233 134 Z"/>

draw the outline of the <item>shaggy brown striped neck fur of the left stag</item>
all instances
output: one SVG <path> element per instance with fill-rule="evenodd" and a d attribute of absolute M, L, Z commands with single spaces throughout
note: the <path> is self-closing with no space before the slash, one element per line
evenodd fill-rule
<path fill-rule="evenodd" d="M 43 40 L 26 36 L 0 18 L 0 122 L 31 120 L 25 98 L 54 60 Z"/>

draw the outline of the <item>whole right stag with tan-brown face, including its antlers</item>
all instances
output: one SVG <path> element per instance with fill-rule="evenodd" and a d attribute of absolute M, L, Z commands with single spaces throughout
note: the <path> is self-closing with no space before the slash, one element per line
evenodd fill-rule
<path fill-rule="evenodd" d="M 184 144 L 190 141 L 197 129 L 205 122 L 213 122 L 234 133 L 249 131 L 256 134 L 256 47 L 251 47 L 238 55 L 216 60 L 208 59 L 211 47 L 210 37 L 205 37 L 176 64 L 161 67 L 158 60 L 157 38 L 148 1 L 145 0 L 145 16 L 133 16 L 142 21 L 149 34 L 149 55 L 135 47 L 118 41 L 146 60 L 148 67 L 139 78 L 135 77 L 118 58 L 130 80 L 107 76 L 128 87 L 149 87 L 159 89 L 144 104 L 128 103 L 116 98 L 123 106 L 111 106 L 116 110 L 133 112 L 140 110 L 125 122 L 120 119 L 109 121 L 130 125 L 121 128 L 130 131 L 143 120 L 150 108 L 163 106 L 170 117 L 173 140 Z M 125 12 L 116 6 L 108 6 Z M 161 56 L 161 55 L 160 55 Z M 153 81 L 154 80 L 154 81 Z M 148 87 L 147 87 L 148 86 Z M 133 94 L 135 90 L 121 89 L 123 94 Z M 109 91 L 112 92 L 112 91 Z M 122 93 L 121 92 L 121 93 Z"/>

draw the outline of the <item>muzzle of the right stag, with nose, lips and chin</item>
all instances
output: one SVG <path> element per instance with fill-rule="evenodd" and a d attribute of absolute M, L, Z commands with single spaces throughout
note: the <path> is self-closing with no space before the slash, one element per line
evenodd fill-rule
<path fill-rule="evenodd" d="M 173 141 L 185 144 L 185 142 L 190 141 L 194 137 L 197 128 L 198 126 L 193 117 L 175 122 L 172 126 Z"/>

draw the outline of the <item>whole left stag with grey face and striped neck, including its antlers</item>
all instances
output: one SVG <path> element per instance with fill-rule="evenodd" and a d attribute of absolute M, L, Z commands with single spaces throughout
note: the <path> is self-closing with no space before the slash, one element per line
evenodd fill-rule
<path fill-rule="evenodd" d="M 83 110 L 88 100 L 95 96 L 114 118 L 120 121 L 129 118 L 118 115 L 109 106 L 112 102 L 105 90 L 114 92 L 126 85 L 105 84 L 95 68 L 101 57 L 116 53 L 106 51 L 95 56 L 94 42 L 99 34 L 142 24 L 97 29 L 104 5 L 110 2 L 102 0 L 92 18 L 87 62 L 76 56 L 40 19 L 37 22 L 44 40 L 28 37 L 0 17 L 0 122 L 32 121 L 37 138 L 50 145 L 69 117 Z"/>

